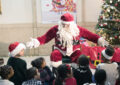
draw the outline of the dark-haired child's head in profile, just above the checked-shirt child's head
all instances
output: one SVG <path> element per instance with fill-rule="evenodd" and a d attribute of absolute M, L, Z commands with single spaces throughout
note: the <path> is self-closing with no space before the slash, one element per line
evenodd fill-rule
<path fill-rule="evenodd" d="M 44 68 L 46 66 L 45 59 L 40 57 L 31 62 L 31 65 L 36 68 Z"/>

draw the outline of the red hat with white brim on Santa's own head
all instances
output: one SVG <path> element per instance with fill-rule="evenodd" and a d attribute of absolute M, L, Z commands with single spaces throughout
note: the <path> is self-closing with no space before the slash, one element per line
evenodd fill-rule
<path fill-rule="evenodd" d="M 61 16 L 61 21 L 65 24 L 70 24 L 74 22 L 74 17 L 70 13 L 65 13 Z"/>

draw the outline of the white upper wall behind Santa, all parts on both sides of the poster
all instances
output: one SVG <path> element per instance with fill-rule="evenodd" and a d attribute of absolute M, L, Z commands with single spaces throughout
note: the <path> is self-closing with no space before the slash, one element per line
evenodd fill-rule
<path fill-rule="evenodd" d="M 32 23 L 32 0 L 1 0 L 0 24 Z M 77 20 L 81 22 L 82 0 L 77 0 Z M 96 22 L 102 0 L 85 0 L 85 21 Z M 41 23 L 41 0 L 36 0 L 37 21 Z"/>

